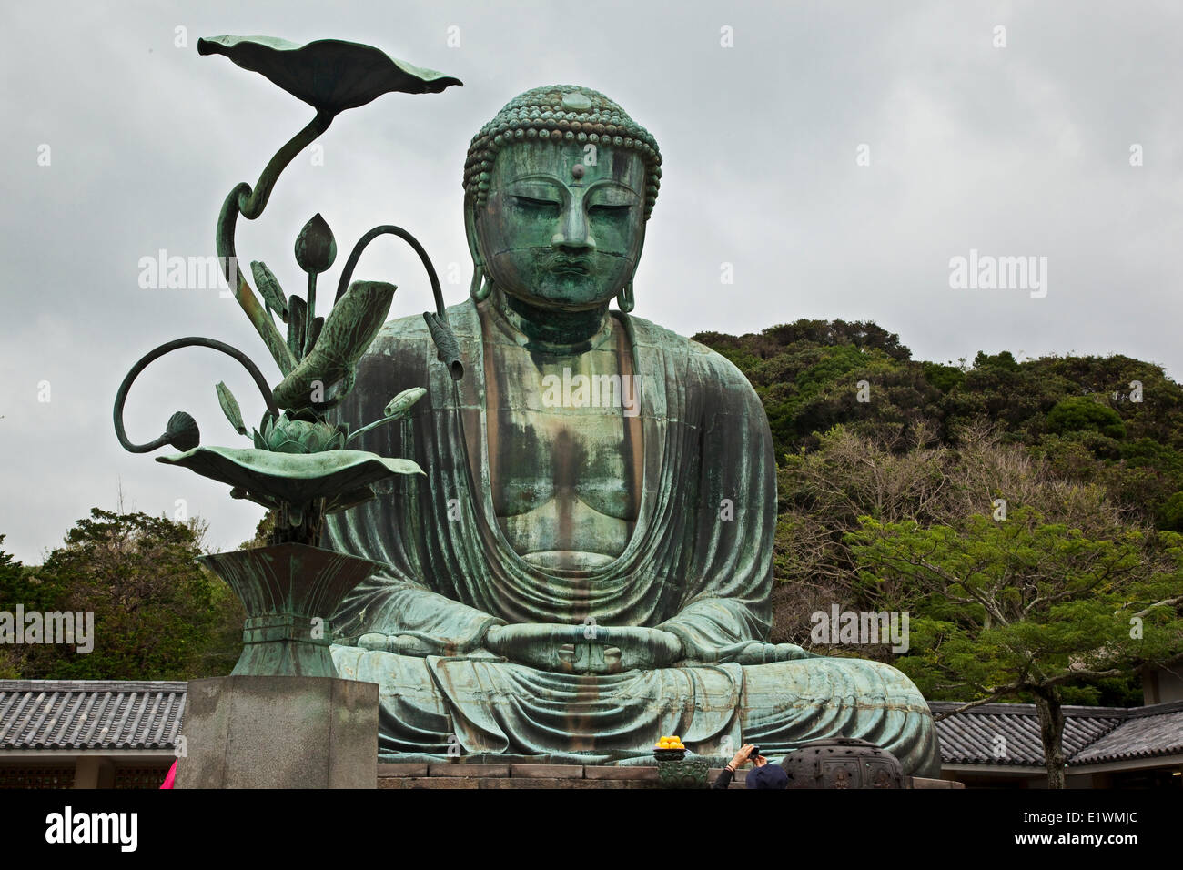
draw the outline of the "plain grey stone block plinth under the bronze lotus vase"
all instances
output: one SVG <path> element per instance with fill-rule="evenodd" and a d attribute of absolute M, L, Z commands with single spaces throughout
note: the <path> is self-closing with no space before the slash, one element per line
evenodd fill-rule
<path fill-rule="evenodd" d="M 331 677 L 189 683 L 176 788 L 374 788 L 377 685 Z"/>

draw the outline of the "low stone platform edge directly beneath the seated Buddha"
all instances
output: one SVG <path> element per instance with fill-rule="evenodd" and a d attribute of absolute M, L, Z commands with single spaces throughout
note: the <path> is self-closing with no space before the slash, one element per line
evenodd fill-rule
<path fill-rule="evenodd" d="M 713 782 L 723 768 L 712 767 Z M 739 771 L 731 788 L 744 788 L 748 771 Z M 593 765 L 409 763 L 379 765 L 379 788 L 661 788 L 657 767 L 599 767 Z M 905 788 L 964 788 L 944 779 L 905 776 Z"/>

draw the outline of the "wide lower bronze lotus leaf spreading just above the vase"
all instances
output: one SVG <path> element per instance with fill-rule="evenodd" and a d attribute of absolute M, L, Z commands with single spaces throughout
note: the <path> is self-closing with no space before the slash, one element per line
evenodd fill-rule
<path fill-rule="evenodd" d="M 251 495 L 292 505 L 337 496 L 394 475 L 421 475 L 411 459 L 389 459 L 362 450 L 273 453 L 252 447 L 195 447 L 156 462 L 181 465 Z"/>

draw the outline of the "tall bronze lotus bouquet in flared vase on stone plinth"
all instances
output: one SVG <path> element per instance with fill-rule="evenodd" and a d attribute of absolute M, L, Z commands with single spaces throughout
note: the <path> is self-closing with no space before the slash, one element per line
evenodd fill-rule
<path fill-rule="evenodd" d="M 286 295 L 265 263 L 251 264 L 261 304 L 238 268 L 235 224 L 240 214 L 248 220 L 263 214 L 283 169 L 341 111 L 389 91 L 435 94 L 460 82 L 395 60 L 377 49 L 334 39 L 300 46 L 266 37 L 216 37 L 200 40 L 198 49 L 202 54 L 225 54 L 239 66 L 263 73 L 316 109 L 312 122 L 276 153 L 253 188 L 244 182 L 231 191 L 216 227 L 216 250 L 226 281 L 283 379 L 270 387 L 258 366 L 225 342 L 200 336 L 177 339 L 149 352 L 128 372 L 115 400 L 115 431 L 131 452 L 148 452 L 166 444 L 182 451 L 157 457 L 157 462 L 227 483 L 232 496 L 276 513 L 269 547 L 206 559 L 247 607 L 246 649 L 234 674 L 334 676 L 328 620 L 341 598 L 375 566 L 321 549 L 323 520 L 373 498 L 374 484 L 422 473 L 411 459 L 348 446 L 363 432 L 403 419 L 424 397 L 422 387 L 408 385 L 390 399 L 381 417 L 355 431 L 347 423 L 329 419 L 330 410 L 353 389 L 357 360 L 381 329 L 394 298 L 393 284 L 351 281 L 366 246 L 379 236 L 399 236 L 419 254 L 435 297 L 435 310 L 425 314 L 425 321 L 452 376 L 461 376 L 464 369 L 446 321 L 439 278 L 426 251 L 407 231 L 384 225 L 366 233 L 342 270 L 331 309 L 317 316 L 317 277 L 332 266 L 337 256 L 325 220 L 313 215 L 296 238 L 296 263 L 308 276 L 303 297 Z M 276 317 L 286 324 L 286 336 L 280 335 Z M 154 360 L 187 347 L 225 353 L 251 374 L 265 405 L 253 431 L 247 430 L 230 388 L 218 384 L 216 392 L 231 426 L 250 437 L 253 446 L 201 446 L 198 424 L 183 411 L 174 413 L 163 434 L 151 442 L 135 444 L 127 437 L 123 406 L 132 382 Z"/>

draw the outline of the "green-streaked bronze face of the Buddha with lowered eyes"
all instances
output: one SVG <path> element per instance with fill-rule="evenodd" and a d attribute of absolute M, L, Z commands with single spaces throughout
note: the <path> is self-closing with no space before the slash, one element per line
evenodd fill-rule
<path fill-rule="evenodd" d="M 580 142 L 523 142 L 502 149 L 489 201 L 476 210 L 485 272 L 532 305 L 581 310 L 606 304 L 636 269 L 645 240 L 645 161 Z"/>

